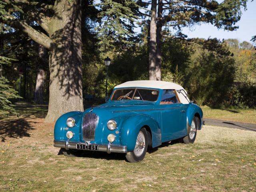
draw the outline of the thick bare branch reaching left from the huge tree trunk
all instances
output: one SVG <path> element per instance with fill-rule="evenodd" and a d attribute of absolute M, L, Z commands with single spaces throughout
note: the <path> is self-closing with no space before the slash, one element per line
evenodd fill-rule
<path fill-rule="evenodd" d="M 52 40 L 48 36 L 46 36 L 42 32 L 38 32 L 37 30 L 34 30 L 27 23 L 16 19 L 14 16 L 6 15 L 5 19 L 0 18 L 0 22 L 10 25 L 14 28 L 18 28 L 38 44 L 44 46 L 47 49 L 51 48 Z"/>

